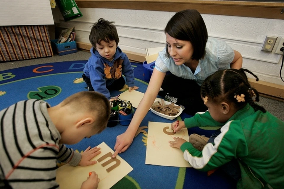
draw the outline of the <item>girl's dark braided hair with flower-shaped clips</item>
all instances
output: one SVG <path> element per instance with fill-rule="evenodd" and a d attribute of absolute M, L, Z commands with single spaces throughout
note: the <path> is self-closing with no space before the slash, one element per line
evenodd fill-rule
<path fill-rule="evenodd" d="M 237 109 L 243 108 L 247 103 L 254 108 L 254 111 L 261 110 L 266 112 L 264 107 L 254 103 L 252 99 L 255 93 L 255 101 L 259 101 L 259 94 L 256 89 L 249 84 L 246 72 L 250 73 L 258 81 L 258 77 L 247 69 L 227 69 L 216 71 L 211 76 L 207 77 L 201 85 L 201 96 L 208 97 L 212 102 L 230 102 Z M 244 94 L 245 101 L 238 102 L 235 95 Z"/>

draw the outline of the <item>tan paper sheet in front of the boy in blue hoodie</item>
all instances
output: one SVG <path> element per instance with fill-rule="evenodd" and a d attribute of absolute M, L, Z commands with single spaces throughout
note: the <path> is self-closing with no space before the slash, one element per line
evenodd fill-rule
<path fill-rule="evenodd" d="M 139 91 L 135 91 L 135 90 L 132 90 L 131 92 L 129 92 L 129 90 L 127 90 L 127 91 L 121 93 L 118 98 L 120 100 L 127 100 L 127 101 L 129 100 L 132 103 L 132 106 L 137 108 L 140 101 L 142 100 L 143 96 L 144 96 L 143 92 L 139 92 Z M 156 98 L 155 100 L 161 100 L 161 99 Z"/>

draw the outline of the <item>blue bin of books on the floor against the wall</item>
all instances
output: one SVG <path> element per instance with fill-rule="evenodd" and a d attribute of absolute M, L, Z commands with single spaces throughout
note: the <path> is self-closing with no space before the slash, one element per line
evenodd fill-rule
<path fill-rule="evenodd" d="M 59 56 L 76 53 L 78 51 L 76 41 L 57 44 L 57 39 L 51 40 L 52 49 Z"/>

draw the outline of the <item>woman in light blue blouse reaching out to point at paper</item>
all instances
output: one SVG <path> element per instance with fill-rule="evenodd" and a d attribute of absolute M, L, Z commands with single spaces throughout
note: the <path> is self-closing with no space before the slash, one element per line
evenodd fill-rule
<path fill-rule="evenodd" d="M 117 136 L 113 157 L 124 152 L 153 104 L 159 89 L 185 106 L 185 112 L 205 111 L 200 98 L 200 86 L 211 74 L 220 69 L 240 69 L 243 58 L 225 41 L 207 41 L 206 25 L 197 10 L 176 13 L 165 28 L 166 48 L 159 52 L 145 95 L 125 133 Z M 171 74 L 166 76 L 166 72 Z"/>

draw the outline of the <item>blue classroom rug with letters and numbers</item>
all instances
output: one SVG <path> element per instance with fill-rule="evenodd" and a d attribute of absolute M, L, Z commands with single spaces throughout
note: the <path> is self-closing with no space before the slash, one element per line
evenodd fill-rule
<path fill-rule="evenodd" d="M 25 66 L 0 72 L 0 110 L 21 100 L 32 98 L 42 99 L 51 106 L 57 105 L 66 97 L 85 89 L 81 75 L 87 61 L 68 61 L 45 63 L 40 65 Z M 0 63 L 1 65 L 1 63 Z M 148 83 L 144 80 L 143 66 L 141 63 L 132 63 L 135 74 L 135 85 L 138 91 L 145 93 Z M 122 92 L 115 91 L 112 96 Z M 191 117 L 182 113 L 178 119 Z M 148 121 L 171 123 L 175 120 L 167 120 L 149 111 L 140 126 L 148 126 Z M 69 145 L 79 152 L 88 146 L 96 146 L 105 142 L 110 148 L 114 147 L 116 136 L 123 133 L 127 126 L 118 124 L 112 128 L 106 128 L 102 133 L 83 139 L 78 144 Z M 147 131 L 147 129 L 145 129 Z M 189 134 L 197 133 L 211 136 L 213 130 L 191 128 Z M 133 171 L 115 184 L 112 188 L 235 188 L 235 182 L 224 173 L 217 170 L 207 176 L 206 172 L 200 172 L 193 168 L 167 167 L 145 164 L 147 134 L 140 133 L 133 140 L 127 151 L 120 154 L 128 162 Z M 60 164 L 59 164 L 60 166 Z"/>

